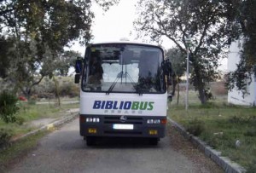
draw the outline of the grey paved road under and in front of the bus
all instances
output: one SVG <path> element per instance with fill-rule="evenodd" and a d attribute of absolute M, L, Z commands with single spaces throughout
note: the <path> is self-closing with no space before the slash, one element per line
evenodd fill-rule
<path fill-rule="evenodd" d="M 180 138 L 177 134 L 166 136 L 156 147 L 143 141 L 120 139 L 86 147 L 79 136 L 78 124 L 79 120 L 75 119 L 45 136 L 38 147 L 12 165 L 9 172 L 219 172 L 215 164 L 207 167 L 204 161 L 203 164 L 195 161 L 193 157 L 199 156 L 195 148 L 189 147 L 195 153 L 192 158 L 177 149 L 181 146 L 172 144 L 173 140 Z"/>

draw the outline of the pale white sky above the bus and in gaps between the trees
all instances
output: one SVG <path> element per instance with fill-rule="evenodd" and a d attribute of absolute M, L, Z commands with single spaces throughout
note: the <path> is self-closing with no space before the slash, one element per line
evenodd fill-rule
<path fill-rule="evenodd" d="M 136 3 L 138 0 L 120 0 L 117 5 L 113 5 L 104 12 L 96 3 L 93 4 L 92 10 L 95 13 L 95 19 L 91 28 L 94 36 L 92 43 L 119 41 L 121 38 L 128 38 L 130 41 L 143 42 L 143 40 L 135 40 L 136 31 L 134 30 L 133 21 L 137 19 Z M 147 38 L 146 38 L 147 39 Z M 163 39 L 162 46 L 170 49 L 174 43 L 168 39 Z M 75 43 L 73 50 L 78 51 L 84 56 L 84 47 L 79 43 Z M 220 61 L 220 70 L 227 69 L 227 59 Z"/>

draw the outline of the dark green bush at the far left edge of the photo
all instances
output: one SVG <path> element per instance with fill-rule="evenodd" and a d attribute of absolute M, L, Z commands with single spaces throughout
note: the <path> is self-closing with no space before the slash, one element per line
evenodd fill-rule
<path fill-rule="evenodd" d="M 15 113 L 19 110 L 19 107 L 16 106 L 17 101 L 18 98 L 7 91 L 3 91 L 0 94 L 0 118 L 5 123 L 14 123 L 16 121 Z"/>

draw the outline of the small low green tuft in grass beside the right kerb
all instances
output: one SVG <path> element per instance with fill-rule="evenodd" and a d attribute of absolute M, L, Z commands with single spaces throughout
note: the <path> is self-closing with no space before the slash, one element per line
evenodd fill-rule
<path fill-rule="evenodd" d="M 194 119 L 189 122 L 187 131 L 194 136 L 200 136 L 201 133 L 205 130 L 204 123 L 201 120 Z"/>

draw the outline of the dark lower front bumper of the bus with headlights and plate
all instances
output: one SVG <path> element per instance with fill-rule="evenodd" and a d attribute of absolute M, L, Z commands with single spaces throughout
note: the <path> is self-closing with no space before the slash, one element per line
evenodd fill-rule
<path fill-rule="evenodd" d="M 166 117 L 80 115 L 81 136 L 152 137 L 166 133 Z"/>

